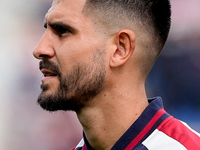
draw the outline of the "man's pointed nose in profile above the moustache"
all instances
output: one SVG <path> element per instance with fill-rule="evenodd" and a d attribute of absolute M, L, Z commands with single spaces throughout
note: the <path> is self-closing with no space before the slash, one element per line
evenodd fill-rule
<path fill-rule="evenodd" d="M 37 59 L 52 58 L 55 55 L 51 35 L 46 31 L 33 51 Z"/>

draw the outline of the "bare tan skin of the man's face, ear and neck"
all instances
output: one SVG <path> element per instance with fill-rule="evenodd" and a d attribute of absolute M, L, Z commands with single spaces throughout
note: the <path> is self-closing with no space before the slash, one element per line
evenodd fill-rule
<path fill-rule="evenodd" d="M 135 42 L 138 33 L 128 29 L 103 36 L 82 13 L 84 4 L 85 0 L 54 0 L 45 17 L 47 29 L 33 54 L 53 61 L 65 75 L 77 63 L 89 64 L 97 48 L 105 50 L 103 89 L 76 114 L 90 145 L 109 150 L 148 105 L 146 75 L 138 64 L 142 44 Z M 52 27 L 56 22 L 70 25 L 72 32 L 59 35 Z M 45 94 L 53 93 L 60 84 L 57 76 L 44 77 L 42 83 L 49 87 Z"/>

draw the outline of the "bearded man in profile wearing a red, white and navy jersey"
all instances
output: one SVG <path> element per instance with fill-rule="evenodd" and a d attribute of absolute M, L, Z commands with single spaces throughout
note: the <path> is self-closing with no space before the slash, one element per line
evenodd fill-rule
<path fill-rule="evenodd" d="M 54 0 L 34 50 L 38 103 L 76 112 L 84 138 L 74 149 L 200 149 L 198 133 L 146 97 L 170 15 L 168 0 Z"/>

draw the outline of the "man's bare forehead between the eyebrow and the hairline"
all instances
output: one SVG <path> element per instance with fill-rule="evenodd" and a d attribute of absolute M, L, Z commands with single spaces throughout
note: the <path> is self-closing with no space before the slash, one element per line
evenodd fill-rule
<path fill-rule="evenodd" d="M 51 8 L 45 16 L 48 22 L 66 22 L 77 24 L 86 22 L 88 18 L 82 13 L 85 0 L 54 0 Z"/>

